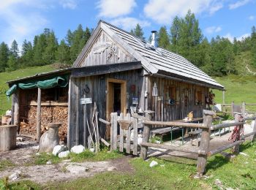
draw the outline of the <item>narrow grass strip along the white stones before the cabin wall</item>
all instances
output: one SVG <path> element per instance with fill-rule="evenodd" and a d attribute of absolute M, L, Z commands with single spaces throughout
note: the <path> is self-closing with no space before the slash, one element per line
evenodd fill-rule
<path fill-rule="evenodd" d="M 83 153 L 69 153 L 67 158 L 60 159 L 58 156 L 54 156 L 49 153 L 40 153 L 39 155 L 34 156 L 33 164 L 46 164 L 47 161 L 51 161 L 52 164 L 58 164 L 64 159 L 71 159 L 73 162 L 83 162 L 83 161 L 105 161 L 110 159 L 117 159 L 124 156 L 118 151 L 108 151 L 108 149 L 103 149 L 99 153 L 92 153 L 89 150 L 84 151 Z"/>

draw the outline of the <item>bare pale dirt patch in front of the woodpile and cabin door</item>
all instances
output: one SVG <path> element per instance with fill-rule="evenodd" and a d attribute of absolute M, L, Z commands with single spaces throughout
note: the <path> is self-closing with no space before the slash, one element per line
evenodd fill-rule
<path fill-rule="evenodd" d="M 15 167 L 0 172 L 0 178 L 10 176 L 20 171 L 20 180 L 32 180 L 37 183 L 67 181 L 75 178 L 91 177 L 99 172 L 133 172 L 129 164 L 131 156 L 125 156 L 110 161 L 86 161 L 83 163 L 61 161 L 59 164 L 30 165 L 37 153 L 38 144 L 29 138 L 17 142 L 17 148 L 12 151 L 0 153 L 0 159 L 10 160 Z"/>

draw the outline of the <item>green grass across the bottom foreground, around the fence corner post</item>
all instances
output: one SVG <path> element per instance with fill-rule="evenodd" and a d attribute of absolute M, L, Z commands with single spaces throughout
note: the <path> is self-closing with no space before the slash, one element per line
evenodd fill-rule
<path fill-rule="evenodd" d="M 173 161 L 151 158 L 149 161 L 135 158 L 130 162 L 135 172 L 105 172 L 91 178 L 80 178 L 69 182 L 48 183 L 43 186 L 28 181 L 9 184 L 10 189 L 220 189 L 214 181 L 219 179 L 223 189 L 255 189 L 256 184 L 256 142 L 245 142 L 242 152 L 233 161 L 217 154 L 208 159 L 206 167 L 208 178 L 198 180 L 193 176 L 195 164 L 180 164 L 179 158 Z M 150 162 L 158 162 L 149 167 Z M 13 187 L 13 188 L 12 188 Z M 28 188 L 29 189 L 29 188 Z"/>

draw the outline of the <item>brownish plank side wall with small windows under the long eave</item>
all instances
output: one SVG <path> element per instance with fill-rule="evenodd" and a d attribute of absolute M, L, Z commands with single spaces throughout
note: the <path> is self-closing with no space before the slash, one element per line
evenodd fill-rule
<path fill-rule="evenodd" d="M 154 114 L 155 121 L 179 120 L 187 117 L 191 111 L 193 111 L 194 118 L 203 116 L 203 109 L 206 109 L 205 96 L 208 95 L 209 88 L 160 77 L 148 77 L 148 80 L 148 110 L 156 112 Z M 152 96 L 154 83 L 157 83 L 158 96 L 160 97 Z M 167 86 L 175 88 L 176 91 L 176 103 L 173 105 L 167 103 L 165 95 Z M 201 104 L 195 104 L 197 91 L 202 97 Z"/>

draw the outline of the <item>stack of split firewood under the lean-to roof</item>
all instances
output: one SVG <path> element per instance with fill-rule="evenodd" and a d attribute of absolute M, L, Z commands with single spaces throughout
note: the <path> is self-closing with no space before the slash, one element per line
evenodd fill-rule
<path fill-rule="evenodd" d="M 48 123 L 61 123 L 59 128 L 60 140 L 67 137 L 67 107 L 63 106 L 42 106 L 41 107 L 41 134 L 48 130 Z M 20 122 L 21 134 L 37 134 L 37 106 L 30 106 L 28 113 L 29 123 Z"/>

